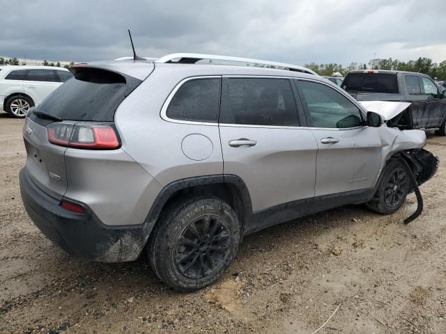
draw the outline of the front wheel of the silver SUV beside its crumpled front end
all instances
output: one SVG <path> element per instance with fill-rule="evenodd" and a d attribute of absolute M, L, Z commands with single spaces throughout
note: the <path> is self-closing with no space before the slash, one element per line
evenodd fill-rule
<path fill-rule="evenodd" d="M 403 205 L 410 191 L 410 170 L 401 161 L 391 161 L 383 170 L 375 197 L 366 206 L 380 214 L 393 214 Z"/>

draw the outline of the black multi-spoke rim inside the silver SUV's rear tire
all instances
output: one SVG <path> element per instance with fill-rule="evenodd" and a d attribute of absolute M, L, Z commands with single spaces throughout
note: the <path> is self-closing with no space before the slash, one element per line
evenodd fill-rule
<path fill-rule="evenodd" d="M 176 242 L 176 267 L 188 278 L 202 278 L 221 267 L 229 253 L 229 229 L 220 216 L 195 218 Z"/>

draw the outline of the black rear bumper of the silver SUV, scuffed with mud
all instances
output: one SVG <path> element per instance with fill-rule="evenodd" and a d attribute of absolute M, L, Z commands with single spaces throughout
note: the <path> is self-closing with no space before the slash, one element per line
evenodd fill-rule
<path fill-rule="evenodd" d="M 144 225 L 109 227 L 82 203 L 86 214 L 63 209 L 56 200 L 38 189 L 20 170 L 20 193 L 26 212 L 45 236 L 71 255 L 100 262 L 136 260 L 144 249 L 148 232 Z"/>

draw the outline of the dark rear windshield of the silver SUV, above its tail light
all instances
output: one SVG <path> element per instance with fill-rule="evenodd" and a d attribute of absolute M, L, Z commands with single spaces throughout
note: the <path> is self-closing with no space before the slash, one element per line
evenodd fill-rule
<path fill-rule="evenodd" d="M 107 70 L 80 67 L 75 78 L 54 90 L 38 111 L 62 120 L 114 120 L 119 104 L 141 81 Z"/>

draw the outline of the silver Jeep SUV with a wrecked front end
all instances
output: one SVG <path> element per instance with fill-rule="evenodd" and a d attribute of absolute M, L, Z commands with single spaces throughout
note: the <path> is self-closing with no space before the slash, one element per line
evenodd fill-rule
<path fill-rule="evenodd" d="M 24 124 L 26 210 L 72 255 L 144 250 L 178 290 L 220 278 L 246 234 L 348 203 L 391 214 L 436 172 L 424 132 L 305 67 L 174 54 L 70 71 Z"/>

